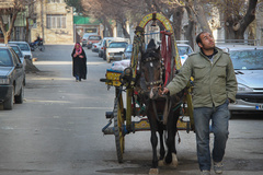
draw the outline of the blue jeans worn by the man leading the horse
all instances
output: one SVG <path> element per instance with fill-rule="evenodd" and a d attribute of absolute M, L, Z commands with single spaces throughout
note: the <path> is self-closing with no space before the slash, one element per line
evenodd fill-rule
<path fill-rule="evenodd" d="M 211 131 L 214 133 L 213 161 L 220 162 L 225 154 L 228 139 L 228 121 L 230 113 L 228 100 L 218 107 L 194 108 L 194 121 L 197 144 L 197 159 L 201 171 L 210 171 L 211 159 L 209 148 L 209 122 L 211 120 Z"/>

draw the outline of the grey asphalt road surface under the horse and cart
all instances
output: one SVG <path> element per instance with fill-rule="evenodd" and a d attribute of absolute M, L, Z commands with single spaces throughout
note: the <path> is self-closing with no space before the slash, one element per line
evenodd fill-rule
<path fill-rule="evenodd" d="M 88 80 L 71 75 L 73 46 L 46 46 L 35 51 L 41 70 L 26 74 L 25 100 L 0 110 L 0 175 L 146 175 L 151 166 L 150 133 L 125 137 L 118 164 L 114 136 L 103 136 L 105 112 L 113 109 L 114 89 L 100 82 L 111 67 L 85 48 Z M 236 116 L 225 156 L 226 175 L 263 174 L 263 117 Z M 195 135 L 180 131 L 176 170 L 162 175 L 199 174 Z M 211 136 L 213 140 L 213 136 Z M 213 144 L 211 144 L 213 145 Z M 214 172 L 213 172 L 214 173 Z"/>

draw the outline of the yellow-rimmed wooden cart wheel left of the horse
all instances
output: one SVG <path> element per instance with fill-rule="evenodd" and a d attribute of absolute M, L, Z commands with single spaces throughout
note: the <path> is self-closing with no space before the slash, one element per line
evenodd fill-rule
<path fill-rule="evenodd" d="M 115 105 L 113 115 L 114 115 L 114 135 L 115 135 L 115 143 L 116 143 L 116 151 L 117 151 L 117 159 L 118 163 L 123 163 L 123 153 L 124 153 L 124 132 L 123 132 L 123 126 L 124 126 L 124 118 L 123 118 L 123 105 L 122 105 L 122 96 L 119 96 L 119 100 L 117 102 L 117 105 Z"/>

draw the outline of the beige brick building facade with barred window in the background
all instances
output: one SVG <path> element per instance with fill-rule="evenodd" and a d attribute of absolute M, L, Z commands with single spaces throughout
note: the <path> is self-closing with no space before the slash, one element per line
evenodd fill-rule
<path fill-rule="evenodd" d="M 35 3 L 35 12 L 31 40 L 39 36 L 45 44 L 73 43 L 73 11 L 64 0 L 39 0 Z"/>

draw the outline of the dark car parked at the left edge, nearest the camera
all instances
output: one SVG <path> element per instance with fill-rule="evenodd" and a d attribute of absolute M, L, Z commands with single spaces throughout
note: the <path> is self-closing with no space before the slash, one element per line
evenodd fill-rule
<path fill-rule="evenodd" d="M 0 103 L 12 109 L 14 103 L 23 103 L 25 73 L 23 65 L 10 46 L 0 46 Z"/>

